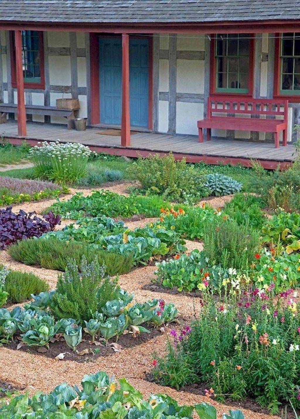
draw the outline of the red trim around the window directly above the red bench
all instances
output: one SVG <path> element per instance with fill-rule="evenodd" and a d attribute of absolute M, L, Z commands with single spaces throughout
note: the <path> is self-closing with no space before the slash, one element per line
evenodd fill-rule
<path fill-rule="evenodd" d="M 210 96 L 238 96 L 238 97 L 252 97 L 253 96 L 253 69 L 254 69 L 254 39 L 250 39 L 249 44 L 249 81 L 248 93 L 229 93 L 216 91 L 216 57 L 215 57 L 215 37 L 216 34 L 211 34 L 210 42 L 210 69 L 209 69 L 209 94 Z"/>

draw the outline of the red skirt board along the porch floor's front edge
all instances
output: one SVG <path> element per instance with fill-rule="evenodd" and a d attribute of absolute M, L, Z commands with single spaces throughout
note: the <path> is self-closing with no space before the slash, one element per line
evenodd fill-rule
<path fill-rule="evenodd" d="M 38 145 L 38 142 L 43 141 L 43 139 L 33 139 L 28 137 L 6 137 L 5 139 L 8 140 L 11 144 L 14 145 L 21 145 L 24 140 L 31 145 L 35 146 Z M 168 154 L 168 151 L 160 151 L 160 150 L 148 150 L 144 148 L 134 148 L 134 147 L 122 147 L 122 146 L 106 146 L 106 145 L 92 145 L 92 144 L 85 144 L 87 145 L 92 151 L 96 153 L 103 153 L 109 155 L 117 155 L 117 156 L 126 156 L 126 157 L 133 157 L 137 158 L 139 155 L 142 157 L 147 157 L 149 154 L 159 154 L 160 156 Z M 245 157 L 233 157 L 233 156 L 219 156 L 219 155 L 209 155 L 209 154 L 192 154 L 192 153 L 176 153 L 173 152 L 173 156 L 176 160 L 181 160 L 183 157 L 186 158 L 188 163 L 199 163 L 203 161 L 207 164 L 229 164 L 231 166 L 244 166 L 244 167 L 251 167 L 251 160 L 250 158 Z M 275 170 L 279 166 L 280 170 L 286 170 L 290 166 L 292 166 L 292 161 L 288 160 L 265 160 L 265 159 L 256 159 L 264 169 Z"/>

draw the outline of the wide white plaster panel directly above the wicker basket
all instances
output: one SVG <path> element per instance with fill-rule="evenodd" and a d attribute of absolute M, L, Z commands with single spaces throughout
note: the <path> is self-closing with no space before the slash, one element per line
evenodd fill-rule
<path fill-rule="evenodd" d="M 70 56 L 49 56 L 49 78 L 52 85 L 71 85 Z"/>

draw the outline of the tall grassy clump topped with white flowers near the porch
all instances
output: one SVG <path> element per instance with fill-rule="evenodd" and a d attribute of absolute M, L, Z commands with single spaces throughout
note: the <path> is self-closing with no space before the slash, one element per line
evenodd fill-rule
<path fill-rule="evenodd" d="M 59 184 L 78 184 L 86 175 L 91 150 L 80 143 L 42 142 L 28 156 L 34 163 L 34 177 Z"/>

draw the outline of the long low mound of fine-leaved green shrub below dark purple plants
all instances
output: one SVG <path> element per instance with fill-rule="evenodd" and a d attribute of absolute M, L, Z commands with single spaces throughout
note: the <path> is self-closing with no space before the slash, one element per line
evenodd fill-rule
<path fill-rule="evenodd" d="M 26 265 L 38 265 L 46 269 L 64 271 L 67 262 L 74 259 L 80 266 L 81 259 L 85 256 L 88 263 L 94 259 L 106 267 L 109 275 L 129 272 L 133 266 L 131 255 L 123 256 L 105 250 L 93 248 L 90 244 L 75 241 L 62 241 L 57 238 L 27 239 L 18 241 L 9 246 L 10 256 Z"/>

